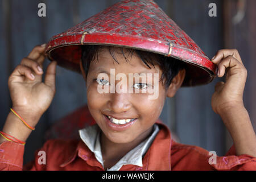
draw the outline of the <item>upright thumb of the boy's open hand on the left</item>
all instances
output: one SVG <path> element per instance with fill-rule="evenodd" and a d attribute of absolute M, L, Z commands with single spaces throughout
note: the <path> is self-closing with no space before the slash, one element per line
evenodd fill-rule
<path fill-rule="evenodd" d="M 50 86 L 53 90 L 55 90 L 56 66 L 57 61 L 52 61 L 52 63 L 48 65 L 46 70 L 46 78 L 44 80 L 44 83 Z"/>

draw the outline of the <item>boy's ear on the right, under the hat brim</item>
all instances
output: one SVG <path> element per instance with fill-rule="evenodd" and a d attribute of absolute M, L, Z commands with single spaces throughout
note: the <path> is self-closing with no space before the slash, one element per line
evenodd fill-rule
<path fill-rule="evenodd" d="M 167 90 L 167 97 L 174 97 L 177 90 L 182 85 L 184 78 L 186 75 L 185 69 L 182 69 L 177 73 L 177 75 L 172 79 L 171 85 L 169 86 Z"/>

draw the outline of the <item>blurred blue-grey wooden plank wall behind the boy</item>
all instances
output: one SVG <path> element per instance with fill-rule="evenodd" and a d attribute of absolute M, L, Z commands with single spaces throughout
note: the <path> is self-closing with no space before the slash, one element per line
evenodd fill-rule
<path fill-rule="evenodd" d="M 38 16 L 38 4 L 46 3 L 46 17 Z M 37 44 L 46 43 L 53 35 L 75 26 L 90 16 L 113 5 L 117 0 L 0 0 L 0 127 L 10 111 L 11 100 L 7 80 L 14 68 Z M 212 57 L 218 49 L 238 48 L 248 69 L 245 106 L 256 128 L 255 114 L 255 1 L 157 0 L 158 5 L 183 29 L 203 51 Z M 209 3 L 217 5 L 217 17 L 209 17 Z M 232 18 L 238 2 L 245 3 L 246 15 L 238 24 Z M 224 8 L 225 7 L 225 8 Z M 224 17 L 225 16 L 225 17 Z M 231 23 L 230 23 L 231 22 Z M 225 23 L 225 24 L 224 24 Z M 225 26 L 223 26 L 225 25 Z M 246 25 L 246 26 L 245 26 Z M 250 28 L 248 28 L 250 27 Z M 245 36 L 240 36 L 240 35 Z M 252 36 L 252 37 L 251 37 Z M 254 39 L 250 39 L 254 38 Z M 250 44 L 249 44 L 250 43 Z M 246 47 L 244 45 L 246 44 Z M 254 47 L 253 47 L 254 45 Z M 253 59 L 254 58 L 254 59 Z M 49 64 L 46 60 L 44 69 Z M 219 115 L 212 111 L 210 100 L 214 85 L 222 79 L 194 88 L 181 88 L 168 98 L 161 115 L 181 143 L 192 144 L 217 155 L 224 155 L 232 145 Z M 24 163 L 34 158 L 36 149 L 45 142 L 44 132 L 58 119 L 86 104 L 86 88 L 82 76 L 57 67 L 56 95 L 27 140 Z"/>

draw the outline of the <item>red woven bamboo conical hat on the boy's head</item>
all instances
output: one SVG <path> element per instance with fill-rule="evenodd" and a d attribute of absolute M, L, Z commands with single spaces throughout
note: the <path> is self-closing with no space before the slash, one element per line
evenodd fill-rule
<path fill-rule="evenodd" d="M 216 65 L 152 0 L 125 0 L 69 30 L 53 36 L 46 47 L 49 60 L 80 73 L 81 45 L 141 49 L 188 63 L 182 86 L 208 84 Z"/>

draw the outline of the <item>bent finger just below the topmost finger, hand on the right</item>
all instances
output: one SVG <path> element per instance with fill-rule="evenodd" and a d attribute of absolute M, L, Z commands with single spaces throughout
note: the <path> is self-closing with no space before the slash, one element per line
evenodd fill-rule
<path fill-rule="evenodd" d="M 240 63 L 233 56 L 228 56 L 225 59 L 222 59 L 218 64 L 218 77 L 222 77 L 225 75 L 226 69 L 230 69 L 230 75 L 238 74 L 240 76 L 246 75 L 246 69 L 243 64 Z"/>

